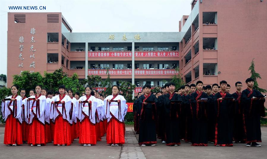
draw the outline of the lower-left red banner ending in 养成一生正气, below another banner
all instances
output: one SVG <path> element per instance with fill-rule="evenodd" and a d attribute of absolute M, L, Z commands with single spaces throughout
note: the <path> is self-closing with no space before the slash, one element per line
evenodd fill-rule
<path fill-rule="evenodd" d="M 107 70 L 88 70 L 88 75 L 106 75 Z M 109 70 L 110 75 L 132 75 L 132 70 Z"/>

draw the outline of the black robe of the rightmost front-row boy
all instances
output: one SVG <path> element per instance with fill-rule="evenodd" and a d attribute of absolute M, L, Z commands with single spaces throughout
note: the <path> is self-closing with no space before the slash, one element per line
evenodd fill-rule
<path fill-rule="evenodd" d="M 255 89 L 242 91 L 241 101 L 244 107 L 243 121 L 245 142 L 261 142 L 260 116 L 265 116 L 265 99 L 252 100 L 252 97 L 262 95 Z"/>

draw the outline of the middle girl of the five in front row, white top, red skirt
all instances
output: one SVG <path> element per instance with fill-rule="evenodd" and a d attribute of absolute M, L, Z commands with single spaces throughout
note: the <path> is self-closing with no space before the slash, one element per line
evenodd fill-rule
<path fill-rule="evenodd" d="M 64 85 L 59 86 L 59 95 L 52 98 L 52 109 L 50 118 L 53 116 L 54 127 L 54 145 L 69 146 L 72 143 L 69 123 L 69 111 L 71 109 L 71 98 L 65 94 Z M 53 115 L 51 115 L 53 114 Z"/>

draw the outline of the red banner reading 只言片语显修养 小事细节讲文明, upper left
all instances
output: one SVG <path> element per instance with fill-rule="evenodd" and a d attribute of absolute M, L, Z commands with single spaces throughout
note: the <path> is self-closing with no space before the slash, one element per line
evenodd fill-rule
<path fill-rule="evenodd" d="M 132 52 L 88 52 L 88 57 L 132 57 Z"/>

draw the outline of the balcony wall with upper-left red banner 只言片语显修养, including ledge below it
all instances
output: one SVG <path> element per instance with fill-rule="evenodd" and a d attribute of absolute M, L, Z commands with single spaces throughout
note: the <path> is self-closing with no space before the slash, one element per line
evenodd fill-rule
<path fill-rule="evenodd" d="M 90 61 L 132 61 L 132 52 L 88 52 L 88 58 Z"/>

